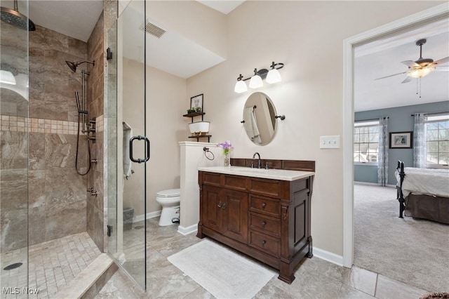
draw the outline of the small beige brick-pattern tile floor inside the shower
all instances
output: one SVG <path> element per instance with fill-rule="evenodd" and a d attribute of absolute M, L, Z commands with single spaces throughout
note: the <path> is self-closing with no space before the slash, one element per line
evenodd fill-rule
<path fill-rule="evenodd" d="M 29 246 L 28 264 L 26 260 L 18 260 L 18 257 L 26 256 L 23 251 L 26 251 L 26 248 L 1 254 L 2 265 L 23 263 L 21 267 L 13 270 L 1 270 L 2 299 L 53 298 L 58 292 L 64 291 L 69 282 L 100 255 L 100 250 L 87 232 Z M 27 287 L 30 291 L 39 289 L 37 295 L 28 297 L 22 292 L 22 288 L 26 287 L 23 275 L 26 270 L 23 267 L 27 265 Z M 10 288 L 10 294 L 6 294 L 4 288 Z"/>

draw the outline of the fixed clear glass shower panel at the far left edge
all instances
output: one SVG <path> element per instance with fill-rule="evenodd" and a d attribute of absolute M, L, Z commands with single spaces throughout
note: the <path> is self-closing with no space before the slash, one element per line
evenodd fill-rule
<path fill-rule="evenodd" d="M 27 298 L 28 192 L 36 187 L 28 186 L 28 31 L 3 21 L 13 1 L 0 4 L 0 290 Z M 19 6 L 28 15 L 28 1 Z"/>

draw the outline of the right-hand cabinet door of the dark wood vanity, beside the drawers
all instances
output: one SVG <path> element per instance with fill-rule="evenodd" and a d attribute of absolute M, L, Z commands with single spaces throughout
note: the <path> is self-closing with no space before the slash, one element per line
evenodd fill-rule
<path fill-rule="evenodd" d="M 222 234 L 245 244 L 248 243 L 248 194 L 235 190 L 222 190 L 224 221 Z"/>

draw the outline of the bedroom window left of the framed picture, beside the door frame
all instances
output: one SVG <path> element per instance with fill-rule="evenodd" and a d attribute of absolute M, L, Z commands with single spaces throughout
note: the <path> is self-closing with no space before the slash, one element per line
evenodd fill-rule
<path fill-rule="evenodd" d="M 379 121 L 354 124 L 354 163 L 377 165 L 379 152 Z"/>

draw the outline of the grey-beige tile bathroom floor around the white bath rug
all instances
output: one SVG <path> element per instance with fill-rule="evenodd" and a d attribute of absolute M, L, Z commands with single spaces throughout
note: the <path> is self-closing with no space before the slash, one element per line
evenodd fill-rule
<path fill-rule="evenodd" d="M 201 239 L 183 236 L 177 225 L 159 227 L 158 218 L 147 220 L 147 292 L 117 271 L 95 297 L 103 298 L 214 298 L 174 265 L 168 256 Z M 420 298 L 429 293 L 361 268 L 347 269 L 319 258 L 306 258 L 297 267 L 295 281 L 286 284 L 273 277 L 254 298 Z"/>

